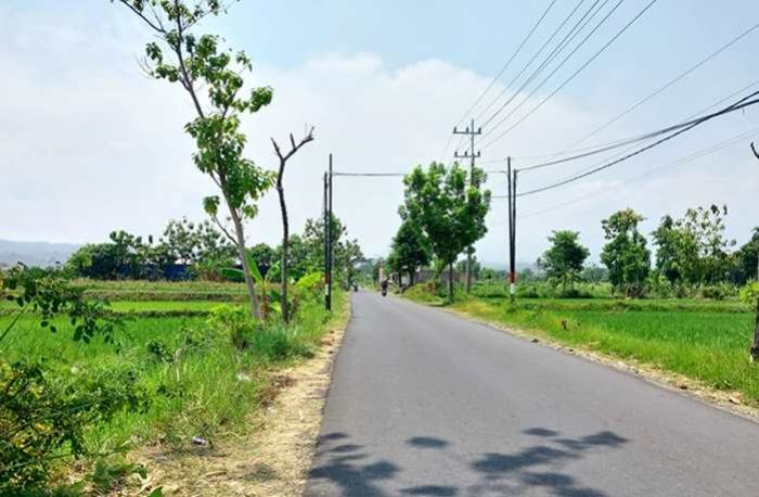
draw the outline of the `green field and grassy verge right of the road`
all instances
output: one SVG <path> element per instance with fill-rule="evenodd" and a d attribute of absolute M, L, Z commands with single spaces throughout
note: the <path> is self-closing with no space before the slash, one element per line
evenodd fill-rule
<path fill-rule="evenodd" d="M 416 302 L 445 305 L 419 286 Z M 754 314 L 737 301 L 518 300 L 471 297 L 449 305 L 464 315 L 602 355 L 683 374 L 738 392 L 759 406 L 759 366 L 748 362 Z"/>

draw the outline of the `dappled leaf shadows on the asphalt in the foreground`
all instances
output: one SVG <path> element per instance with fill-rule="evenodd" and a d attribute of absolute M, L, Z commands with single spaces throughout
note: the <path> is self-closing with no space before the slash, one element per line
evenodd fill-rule
<path fill-rule="evenodd" d="M 389 483 L 403 472 L 402 467 L 386 459 L 375 460 L 365 447 L 350 443 L 347 433 L 331 433 L 319 439 L 306 495 L 382 497 L 400 493 L 454 497 L 520 495 L 540 488 L 562 497 L 599 497 L 607 494 L 579 483 L 568 470 L 568 463 L 603 449 L 620 448 L 628 442 L 610 431 L 577 438 L 544 428 L 523 433 L 536 438 L 536 443 L 513 453 L 487 453 L 464 461 L 461 473 L 465 474 L 448 474 L 446 482 L 417 482 L 419 486 L 393 492 L 386 488 L 397 487 Z M 420 459 L 435 457 L 435 453 L 446 453 L 451 447 L 450 442 L 432 436 L 414 436 L 404 442 L 409 450 L 414 450 L 414 458 Z M 466 483 L 456 486 L 449 480 Z"/>

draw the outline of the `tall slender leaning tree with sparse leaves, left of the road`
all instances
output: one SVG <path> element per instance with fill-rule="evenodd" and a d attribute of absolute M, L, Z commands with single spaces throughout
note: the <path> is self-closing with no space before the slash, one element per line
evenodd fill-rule
<path fill-rule="evenodd" d="M 112 0 L 113 1 L 113 0 Z M 119 0 L 156 35 L 158 41 L 145 47 L 146 72 L 156 79 L 178 82 L 192 101 L 195 119 L 185 126 L 195 140 L 195 166 L 208 175 L 221 191 L 232 220 L 234 235 L 219 220 L 219 195 L 207 196 L 204 208 L 236 245 L 243 265 L 250 314 L 260 319 L 255 282 L 245 251 L 245 219 L 257 213 L 257 201 L 273 186 L 274 175 L 243 157 L 246 137 L 240 130 L 241 116 L 256 113 L 271 102 L 269 87 L 243 93 L 244 72 L 252 72 L 245 52 L 219 47 L 216 35 L 194 33 L 207 15 L 224 12 L 220 0 Z M 167 48 L 166 53 L 159 44 Z"/>

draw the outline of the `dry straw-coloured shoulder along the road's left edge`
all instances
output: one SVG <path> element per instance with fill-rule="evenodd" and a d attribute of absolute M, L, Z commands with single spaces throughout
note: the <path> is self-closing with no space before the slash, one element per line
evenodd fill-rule
<path fill-rule="evenodd" d="M 252 416 L 252 434 L 183 454 L 145 450 L 150 469 L 142 488 L 160 486 L 166 496 L 266 496 L 303 494 L 311 468 L 335 355 L 350 306 L 334 320 L 308 361 L 280 370 L 271 404 Z"/>

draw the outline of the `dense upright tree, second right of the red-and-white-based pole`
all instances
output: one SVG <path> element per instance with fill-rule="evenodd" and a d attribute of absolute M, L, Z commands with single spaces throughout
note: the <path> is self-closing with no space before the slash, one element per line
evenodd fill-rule
<path fill-rule="evenodd" d="M 651 270 L 651 252 L 645 238 L 638 231 L 643 216 L 631 208 L 619 211 L 601 226 L 608 243 L 601 253 L 601 262 L 608 268 L 614 288 L 628 296 L 641 296 Z"/>

